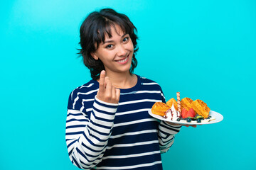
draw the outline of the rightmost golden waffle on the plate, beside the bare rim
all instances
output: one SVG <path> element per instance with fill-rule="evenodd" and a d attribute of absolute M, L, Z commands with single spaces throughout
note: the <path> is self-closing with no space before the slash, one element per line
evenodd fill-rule
<path fill-rule="evenodd" d="M 197 99 L 196 101 L 193 101 L 192 103 L 193 110 L 198 113 L 198 115 L 203 116 L 203 118 L 208 118 L 210 113 L 210 108 L 208 108 L 207 104 L 203 101 Z"/>

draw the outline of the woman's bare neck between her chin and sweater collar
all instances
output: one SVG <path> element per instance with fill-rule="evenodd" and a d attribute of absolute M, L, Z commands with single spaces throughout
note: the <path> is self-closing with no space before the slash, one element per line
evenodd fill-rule
<path fill-rule="evenodd" d="M 106 72 L 106 76 L 110 78 L 112 85 L 119 89 L 129 89 L 137 84 L 137 76 L 129 72 Z"/>

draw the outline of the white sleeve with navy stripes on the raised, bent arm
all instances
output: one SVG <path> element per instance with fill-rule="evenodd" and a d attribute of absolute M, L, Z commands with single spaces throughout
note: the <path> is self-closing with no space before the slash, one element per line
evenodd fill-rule
<path fill-rule="evenodd" d="M 92 169 L 101 162 L 114 126 L 118 104 L 106 103 L 95 97 L 88 115 L 68 109 L 66 143 L 71 162 L 80 169 Z"/>

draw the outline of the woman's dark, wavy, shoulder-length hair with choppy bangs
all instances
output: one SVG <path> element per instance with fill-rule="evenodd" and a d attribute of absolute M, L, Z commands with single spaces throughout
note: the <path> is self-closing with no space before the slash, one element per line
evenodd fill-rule
<path fill-rule="evenodd" d="M 100 12 L 94 11 L 90 13 L 80 27 L 80 45 L 81 49 L 78 54 L 82 56 L 85 66 L 90 69 L 92 79 L 99 79 L 100 72 L 105 69 L 102 61 L 95 60 L 91 53 L 97 50 L 100 42 L 105 42 L 105 35 L 112 38 L 111 27 L 114 24 L 120 26 L 124 34 L 129 34 L 134 45 L 134 55 L 132 56 L 132 66 L 129 69 L 130 74 L 137 67 L 137 59 L 135 58 L 137 50 L 137 28 L 123 13 L 117 13 L 111 8 L 103 8 Z M 96 44 L 96 47 L 95 47 Z"/>

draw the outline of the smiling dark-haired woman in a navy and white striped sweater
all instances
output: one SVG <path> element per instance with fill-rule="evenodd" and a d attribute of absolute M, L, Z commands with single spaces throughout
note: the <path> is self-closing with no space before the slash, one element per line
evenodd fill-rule
<path fill-rule="evenodd" d="M 137 74 L 137 29 L 110 8 L 90 13 L 80 28 L 80 55 L 92 80 L 70 94 L 66 142 L 80 169 L 162 169 L 161 153 L 181 125 L 151 118 L 165 102 L 159 84 Z"/>

